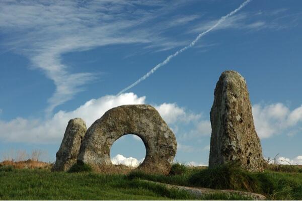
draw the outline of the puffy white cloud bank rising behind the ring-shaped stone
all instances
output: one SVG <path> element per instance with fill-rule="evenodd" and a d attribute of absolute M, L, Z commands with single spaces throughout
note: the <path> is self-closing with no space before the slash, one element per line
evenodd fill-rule
<path fill-rule="evenodd" d="M 138 97 L 134 93 L 105 95 L 91 99 L 73 111 L 59 111 L 46 120 L 21 117 L 9 122 L 0 120 L 0 139 L 8 142 L 59 143 L 70 119 L 82 118 L 89 128 L 109 109 L 129 104 L 145 104 L 145 96 Z M 176 104 L 165 103 L 156 108 L 160 109 L 159 113 L 163 119 L 171 124 L 196 118 L 194 114 L 186 113 Z M 139 137 L 134 138 L 140 140 Z"/>

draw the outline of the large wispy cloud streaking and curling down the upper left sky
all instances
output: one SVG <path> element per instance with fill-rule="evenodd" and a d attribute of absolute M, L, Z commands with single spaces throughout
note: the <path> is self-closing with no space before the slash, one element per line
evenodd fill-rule
<path fill-rule="evenodd" d="M 167 8 L 165 1 L 1 1 L 0 32 L 6 39 L 2 53 L 9 50 L 25 55 L 34 68 L 53 80 L 56 89 L 46 109 L 50 113 L 97 78 L 91 72 L 71 73 L 62 61 L 64 53 L 112 44 L 152 43 L 152 36 L 161 37 L 141 26 L 156 18 L 157 12 L 171 9 Z M 193 17 L 184 21 L 190 19 Z"/>

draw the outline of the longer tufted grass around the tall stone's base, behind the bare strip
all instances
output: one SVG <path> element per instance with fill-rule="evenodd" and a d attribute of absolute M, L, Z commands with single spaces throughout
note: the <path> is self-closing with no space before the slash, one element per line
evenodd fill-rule
<path fill-rule="evenodd" d="M 268 199 L 302 199 L 302 173 L 296 169 L 293 169 L 293 172 L 265 170 L 252 173 L 236 165 L 224 165 L 214 169 L 190 168 L 183 174 L 169 176 L 149 175 L 135 171 L 129 173 L 128 178 L 141 178 L 175 185 L 249 191 L 264 194 Z"/>

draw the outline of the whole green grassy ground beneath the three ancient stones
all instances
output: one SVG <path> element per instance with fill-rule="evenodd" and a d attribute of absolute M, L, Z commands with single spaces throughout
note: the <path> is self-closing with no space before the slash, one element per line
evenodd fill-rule
<path fill-rule="evenodd" d="M 285 172 L 286 171 L 286 172 Z M 279 168 L 249 173 L 236 167 L 214 170 L 174 165 L 171 174 L 99 174 L 51 172 L 49 169 L 0 167 L 0 199 L 196 199 L 187 191 L 169 189 L 163 183 L 211 188 L 232 188 L 262 193 L 268 199 L 302 199 L 302 173 Z M 238 194 L 214 193 L 198 199 L 250 199 Z"/>

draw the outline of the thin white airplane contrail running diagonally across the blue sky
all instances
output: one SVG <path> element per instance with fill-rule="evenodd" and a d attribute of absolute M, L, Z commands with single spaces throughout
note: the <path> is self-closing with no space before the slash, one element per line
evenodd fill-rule
<path fill-rule="evenodd" d="M 193 47 L 195 45 L 195 43 L 205 34 L 207 34 L 208 32 L 212 31 L 213 29 L 215 29 L 218 25 L 220 25 L 223 21 L 225 21 L 225 19 L 235 15 L 238 11 L 240 11 L 243 7 L 245 7 L 248 3 L 250 3 L 252 0 L 247 0 L 244 3 L 242 3 L 240 5 L 240 7 L 238 7 L 237 9 L 235 9 L 234 11 L 232 11 L 231 13 L 229 13 L 226 16 L 221 17 L 218 22 L 216 24 L 214 24 L 212 27 L 210 27 L 208 30 L 200 33 L 194 41 L 192 41 L 189 45 L 185 46 L 184 48 L 176 51 L 174 54 L 171 54 L 170 56 L 168 56 L 163 62 L 159 63 L 158 65 L 156 65 L 154 68 L 152 68 L 149 72 L 147 72 L 144 76 L 140 77 L 138 80 L 136 80 L 134 83 L 132 83 L 131 85 L 127 86 L 126 88 L 124 88 L 123 90 L 121 90 L 120 92 L 118 92 L 117 95 L 120 95 L 121 93 L 129 90 L 130 88 L 132 88 L 133 86 L 135 86 L 136 84 L 138 84 L 139 82 L 145 80 L 147 77 L 149 77 L 150 75 L 152 75 L 157 69 L 159 69 L 160 67 L 162 67 L 163 65 L 166 65 L 167 63 L 169 63 L 169 61 L 173 58 L 176 57 L 178 54 L 182 53 L 183 51 Z"/>

